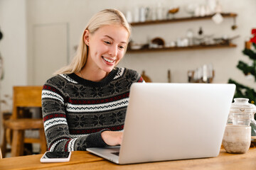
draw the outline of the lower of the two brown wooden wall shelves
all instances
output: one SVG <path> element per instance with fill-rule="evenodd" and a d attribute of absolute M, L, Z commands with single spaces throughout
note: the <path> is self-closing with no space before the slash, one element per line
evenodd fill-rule
<path fill-rule="evenodd" d="M 147 48 L 147 49 L 138 49 L 138 50 L 127 50 L 128 53 L 135 52 L 161 52 L 161 51 L 179 51 L 179 50 L 204 50 L 204 49 L 214 49 L 214 48 L 228 48 L 236 47 L 237 45 L 230 43 L 227 45 L 193 45 L 188 47 L 163 47 L 163 48 Z"/>

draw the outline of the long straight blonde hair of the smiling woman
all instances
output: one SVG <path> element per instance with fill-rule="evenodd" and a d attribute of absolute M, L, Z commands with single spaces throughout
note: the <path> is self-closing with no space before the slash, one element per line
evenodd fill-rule
<path fill-rule="evenodd" d="M 96 13 L 90 21 L 87 23 L 85 30 L 89 30 L 91 34 L 95 33 L 96 30 L 106 25 L 122 25 L 127 29 L 129 36 L 131 35 L 131 27 L 125 19 L 122 12 L 117 9 L 105 9 Z M 72 74 L 74 72 L 80 72 L 82 67 L 85 66 L 87 61 L 88 46 L 85 44 L 84 36 L 85 30 L 82 33 L 78 50 L 73 60 L 67 66 L 59 69 L 54 74 Z"/>

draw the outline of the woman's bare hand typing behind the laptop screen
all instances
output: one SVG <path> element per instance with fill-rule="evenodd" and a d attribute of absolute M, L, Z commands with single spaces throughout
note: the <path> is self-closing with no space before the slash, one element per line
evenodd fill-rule
<path fill-rule="evenodd" d="M 116 145 L 122 144 L 123 132 L 114 132 L 114 131 L 105 130 L 101 133 L 101 135 L 102 135 L 102 140 L 104 140 L 104 142 L 107 145 L 116 146 Z"/>

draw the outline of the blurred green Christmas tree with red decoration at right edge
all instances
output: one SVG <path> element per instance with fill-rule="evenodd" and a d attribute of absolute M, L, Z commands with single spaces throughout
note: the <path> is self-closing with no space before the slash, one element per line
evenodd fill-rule
<path fill-rule="evenodd" d="M 254 78 L 256 81 L 256 29 L 252 29 L 252 35 L 250 41 L 245 42 L 245 50 L 242 51 L 244 55 L 250 57 L 252 64 L 239 61 L 237 67 L 242 70 L 246 77 Z M 252 47 L 254 49 L 251 49 Z M 254 88 L 239 84 L 233 79 L 229 79 L 228 83 L 236 85 L 234 98 L 249 98 L 249 102 L 255 104 L 256 92 Z"/>

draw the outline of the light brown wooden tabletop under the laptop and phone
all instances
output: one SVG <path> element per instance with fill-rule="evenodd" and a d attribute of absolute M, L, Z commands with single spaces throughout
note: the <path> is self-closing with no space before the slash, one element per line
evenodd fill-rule
<path fill-rule="evenodd" d="M 246 154 L 228 154 L 220 149 L 218 157 L 205 159 L 187 159 L 168 162 L 117 165 L 97 157 L 89 152 L 75 151 L 70 162 L 40 163 L 42 154 L 0 159 L 0 169 L 256 169 L 256 148 L 250 148 Z"/>

